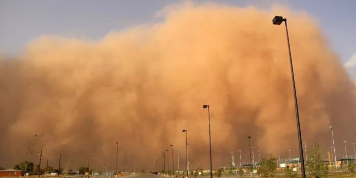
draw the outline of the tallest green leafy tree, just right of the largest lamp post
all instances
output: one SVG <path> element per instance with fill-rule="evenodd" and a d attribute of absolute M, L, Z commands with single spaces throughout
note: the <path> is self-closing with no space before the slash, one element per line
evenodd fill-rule
<path fill-rule="evenodd" d="M 308 159 L 305 162 L 305 167 L 308 172 L 314 177 L 327 177 L 328 165 L 324 163 L 323 150 L 319 145 L 315 144 L 308 152 Z"/>

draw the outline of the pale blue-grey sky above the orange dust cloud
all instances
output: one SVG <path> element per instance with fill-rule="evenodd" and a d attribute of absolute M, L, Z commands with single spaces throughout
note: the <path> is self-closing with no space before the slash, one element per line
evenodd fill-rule
<path fill-rule="evenodd" d="M 213 1 L 193 1 L 203 4 Z M 356 1 L 218 1 L 229 6 L 269 9 L 281 4 L 310 14 L 329 38 L 351 78 L 356 79 Z M 0 51 L 16 56 L 39 35 L 98 40 L 110 31 L 157 20 L 165 6 L 182 1 L 0 0 Z M 352 57 L 353 56 L 353 57 Z M 352 59 L 351 59 L 352 58 Z"/>

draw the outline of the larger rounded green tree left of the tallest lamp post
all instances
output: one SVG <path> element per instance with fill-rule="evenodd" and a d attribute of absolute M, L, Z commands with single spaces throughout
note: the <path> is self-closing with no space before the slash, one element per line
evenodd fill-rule
<path fill-rule="evenodd" d="M 257 171 L 263 177 L 274 177 L 277 171 L 277 159 L 272 155 L 269 158 L 263 158 Z"/>

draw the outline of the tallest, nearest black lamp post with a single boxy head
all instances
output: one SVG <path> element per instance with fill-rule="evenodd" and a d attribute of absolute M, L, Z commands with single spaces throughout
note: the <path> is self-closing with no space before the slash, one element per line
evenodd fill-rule
<path fill-rule="evenodd" d="M 284 21 L 286 24 L 286 33 L 287 33 L 287 42 L 288 42 L 288 51 L 289 51 L 289 61 L 291 63 L 291 74 L 292 74 L 292 84 L 293 84 L 293 93 L 294 93 L 294 103 L 295 103 L 295 110 L 296 110 L 296 119 L 297 119 L 297 130 L 298 130 L 298 140 L 299 140 L 299 153 L 300 153 L 300 164 L 302 169 L 302 178 L 305 178 L 305 168 L 304 168 L 304 157 L 303 157 L 303 141 L 302 141 L 302 134 L 300 131 L 300 122 L 299 122 L 299 111 L 298 111 L 298 101 L 297 101 L 297 91 L 296 85 L 294 81 L 294 72 L 293 72 L 293 62 L 292 62 L 292 54 L 291 54 L 291 46 L 289 44 L 289 35 L 288 35 L 288 27 L 287 27 L 287 19 L 281 16 L 275 16 L 272 20 L 274 25 L 280 25 Z"/>

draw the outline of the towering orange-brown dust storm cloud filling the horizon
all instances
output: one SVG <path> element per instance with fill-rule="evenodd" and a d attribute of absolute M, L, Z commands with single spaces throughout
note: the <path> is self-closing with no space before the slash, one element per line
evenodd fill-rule
<path fill-rule="evenodd" d="M 39 37 L 16 59 L 2 58 L 0 165 L 20 162 L 16 151 L 43 133 L 54 167 L 61 153 L 73 169 L 88 158 L 92 168 L 114 169 L 118 141 L 120 170 L 130 169 L 131 156 L 134 169 L 154 169 L 171 144 L 182 169 L 187 129 L 193 168 L 208 168 L 203 104 L 213 167 L 238 149 L 248 162 L 250 135 L 262 156 L 297 156 L 286 32 L 272 25 L 275 15 L 288 18 L 303 141 L 329 146 L 333 124 L 341 148 L 354 136 L 354 85 L 317 24 L 305 13 L 203 5 L 172 8 L 161 22 L 96 42 Z"/>

